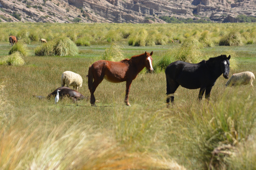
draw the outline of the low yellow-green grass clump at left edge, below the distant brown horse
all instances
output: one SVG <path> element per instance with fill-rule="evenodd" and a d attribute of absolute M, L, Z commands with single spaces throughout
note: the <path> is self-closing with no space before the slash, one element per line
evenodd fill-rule
<path fill-rule="evenodd" d="M 24 65 L 25 61 L 19 52 L 15 52 L 0 60 L 0 65 Z"/>

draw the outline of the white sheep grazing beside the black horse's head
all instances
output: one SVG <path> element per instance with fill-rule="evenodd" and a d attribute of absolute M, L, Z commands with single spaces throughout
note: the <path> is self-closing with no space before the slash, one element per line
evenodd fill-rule
<path fill-rule="evenodd" d="M 233 74 L 230 79 L 226 83 L 227 86 L 236 86 L 236 85 L 246 85 L 250 84 L 252 85 L 253 80 L 255 79 L 255 76 L 252 72 L 250 71 L 245 71 L 245 72 L 239 72 L 237 74 Z"/>

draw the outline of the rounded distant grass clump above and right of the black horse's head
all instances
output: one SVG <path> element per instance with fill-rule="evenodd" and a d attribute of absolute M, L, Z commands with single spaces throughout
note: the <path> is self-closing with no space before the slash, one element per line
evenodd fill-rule
<path fill-rule="evenodd" d="M 219 45 L 239 46 L 243 45 L 241 35 L 238 32 L 230 32 L 221 38 Z"/>

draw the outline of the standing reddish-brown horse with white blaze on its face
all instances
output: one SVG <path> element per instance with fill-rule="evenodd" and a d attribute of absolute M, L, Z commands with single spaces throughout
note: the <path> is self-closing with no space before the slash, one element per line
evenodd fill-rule
<path fill-rule="evenodd" d="M 153 52 L 145 52 L 141 55 L 133 56 L 131 59 L 124 59 L 119 62 L 99 60 L 93 63 L 89 67 L 88 72 L 88 87 L 91 92 L 90 103 L 92 106 L 95 105 L 94 92 L 103 79 L 112 83 L 126 81 L 124 102 L 127 106 L 131 106 L 128 101 L 128 95 L 132 81 L 144 67 L 146 67 L 149 72 L 154 70 L 152 67 L 152 55 Z"/>

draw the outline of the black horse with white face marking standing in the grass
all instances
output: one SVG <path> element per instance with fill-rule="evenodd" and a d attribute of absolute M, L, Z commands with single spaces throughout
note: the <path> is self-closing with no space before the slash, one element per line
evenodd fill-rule
<path fill-rule="evenodd" d="M 188 89 L 200 88 L 198 99 L 202 100 L 205 91 L 205 98 L 209 100 L 210 90 L 218 77 L 223 74 L 228 79 L 229 59 L 230 55 L 221 55 L 197 64 L 184 61 L 170 63 L 165 69 L 167 105 L 174 101 L 173 93 L 180 85 Z"/>

